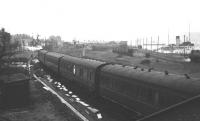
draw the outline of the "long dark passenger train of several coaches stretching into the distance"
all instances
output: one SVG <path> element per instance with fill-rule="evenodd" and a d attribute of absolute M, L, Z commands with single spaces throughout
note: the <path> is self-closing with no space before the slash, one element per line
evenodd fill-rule
<path fill-rule="evenodd" d="M 200 93 L 200 80 L 40 50 L 39 61 L 51 71 L 144 115 Z"/>

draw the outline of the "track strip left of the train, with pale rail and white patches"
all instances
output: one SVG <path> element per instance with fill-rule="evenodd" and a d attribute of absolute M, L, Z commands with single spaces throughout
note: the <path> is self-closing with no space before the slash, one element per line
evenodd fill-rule
<path fill-rule="evenodd" d="M 33 77 L 44 86 L 45 90 L 50 91 L 52 94 L 54 94 L 82 121 L 101 120 L 101 114 L 98 112 L 98 110 L 95 110 L 92 107 L 89 107 L 86 103 L 81 102 L 79 98 L 77 98 L 77 96 L 75 95 L 72 95 L 72 92 L 68 91 L 64 87 L 64 85 L 61 85 L 59 82 L 52 82 L 51 79 L 48 80 L 41 78 L 36 74 L 33 74 Z M 57 87 L 57 89 L 55 88 L 55 86 Z M 81 105 L 77 106 L 77 102 L 79 102 Z"/>

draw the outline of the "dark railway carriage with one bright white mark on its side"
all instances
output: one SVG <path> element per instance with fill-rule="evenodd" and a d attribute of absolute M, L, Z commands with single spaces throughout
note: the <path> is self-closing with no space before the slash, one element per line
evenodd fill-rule
<path fill-rule="evenodd" d="M 60 61 L 60 73 L 62 76 L 87 87 L 90 91 L 94 91 L 96 70 L 103 63 L 66 55 Z"/>

